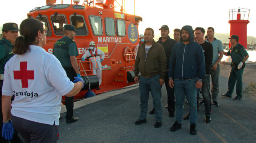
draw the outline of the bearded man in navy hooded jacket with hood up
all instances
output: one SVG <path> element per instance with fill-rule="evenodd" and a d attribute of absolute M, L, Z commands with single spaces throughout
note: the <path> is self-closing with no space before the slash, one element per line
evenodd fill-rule
<path fill-rule="evenodd" d="M 176 121 L 170 128 L 177 131 L 181 128 L 183 104 L 187 96 L 190 112 L 190 134 L 196 134 L 197 89 L 202 87 L 205 75 L 205 58 L 202 47 L 193 41 L 194 34 L 191 26 L 181 29 L 181 42 L 173 47 L 169 62 L 169 86 L 174 87 Z"/>

